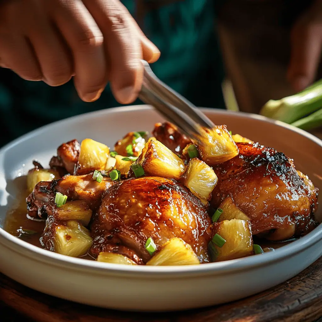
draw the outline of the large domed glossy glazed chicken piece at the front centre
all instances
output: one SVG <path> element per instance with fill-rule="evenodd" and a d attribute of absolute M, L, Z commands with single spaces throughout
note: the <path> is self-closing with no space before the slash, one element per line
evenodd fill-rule
<path fill-rule="evenodd" d="M 179 237 L 200 262 L 208 262 L 210 227 L 204 205 L 175 180 L 131 178 L 113 185 L 104 196 L 91 226 L 90 254 L 115 252 L 144 264 L 151 258 L 145 249 L 149 237 L 157 247 Z"/>

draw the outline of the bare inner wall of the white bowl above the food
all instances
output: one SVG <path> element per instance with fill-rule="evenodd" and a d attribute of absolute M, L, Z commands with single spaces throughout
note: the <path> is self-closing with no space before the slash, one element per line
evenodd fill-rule
<path fill-rule="evenodd" d="M 256 115 L 204 109 L 215 124 L 226 124 L 228 130 L 239 133 L 262 145 L 274 147 L 294 159 L 298 170 L 307 174 L 314 185 L 322 189 L 322 142 L 279 122 Z M 164 119 L 149 107 L 125 107 L 80 115 L 33 131 L 0 151 L 0 227 L 8 209 L 25 187 L 25 177 L 37 159 L 44 167 L 56 155 L 57 147 L 71 139 L 92 138 L 113 147 L 130 131 L 152 131 L 156 122 Z M 320 221 L 322 209 L 317 213 Z"/>

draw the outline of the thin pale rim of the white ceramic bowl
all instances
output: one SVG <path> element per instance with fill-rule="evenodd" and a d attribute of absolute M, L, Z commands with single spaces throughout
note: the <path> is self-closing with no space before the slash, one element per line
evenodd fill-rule
<path fill-rule="evenodd" d="M 41 128 L 35 129 L 14 141 L 8 143 L 0 149 L 0 160 L 3 160 L 5 153 L 13 148 L 14 146 L 23 143 L 25 140 L 40 135 L 43 131 L 50 128 L 55 128 L 57 125 L 64 126 L 70 122 L 77 122 L 86 117 L 100 117 L 105 116 L 110 113 L 118 112 L 133 112 L 142 110 L 153 110 L 151 106 L 147 105 L 134 105 L 134 106 L 124 106 L 103 109 L 99 111 L 88 112 L 66 118 L 60 121 L 56 121 L 45 125 Z M 245 113 L 245 112 L 235 112 L 227 111 L 223 109 L 213 109 L 213 108 L 201 108 L 203 112 L 210 112 L 210 114 L 219 115 L 232 115 L 239 118 L 252 118 L 257 119 L 260 122 L 271 123 L 281 128 L 286 128 L 289 131 L 296 132 L 301 136 L 315 142 L 322 150 L 322 141 L 313 136 L 312 134 L 305 132 L 304 130 L 295 128 L 289 124 L 269 119 L 261 115 Z M 1 166 L 0 166 L 1 170 Z M 118 265 L 104 262 L 97 262 L 94 260 L 86 260 L 82 258 L 73 258 L 61 254 L 54 253 L 52 251 L 44 250 L 40 247 L 34 246 L 16 238 L 10 233 L 6 232 L 4 229 L 0 228 L 0 243 L 6 244 L 11 250 L 16 251 L 24 256 L 33 257 L 36 260 L 50 262 L 51 265 L 55 266 L 67 266 L 74 270 L 86 270 L 95 271 L 97 274 L 116 274 L 116 275 L 133 275 L 137 277 L 147 278 L 149 276 L 156 278 L 163 278 L 165 276 L 170 277 L 171 275 L 175 278 L 186 277 L 187 275 L 208 275 L 208 274 L 228 274 L 238 270 L 253 269 L 260 266 L 266 266 L 273 262 L 281 261 L 285 258 L 292 257 L 298 252 L 305 251 L 307 248 L 311 247 L 313 244 L 322 240 L 322 224 L 319 224 L 312 232 L 301 237 L 300 239 L 293 241 L 274 252 L 266 253 L 265 257 L 261 256 L 249 256 L 246 258 L 227 260 L 223 262 L 206 263 L 202 265 L 188 265 L 188 266 L 128 266 L 128 265 Z"/>

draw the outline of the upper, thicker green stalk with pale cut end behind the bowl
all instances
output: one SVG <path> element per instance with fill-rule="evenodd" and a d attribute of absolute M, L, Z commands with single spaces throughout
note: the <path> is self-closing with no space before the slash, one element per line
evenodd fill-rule
<path fill-rule="evenodd" d="M 295 95 L 279 100 L 269 100 L 260 110 L 260 114 L 291 124 L 321 107 L 322 80 L 319 80 Z M 302 122 L 301 124 L 304 126 Z M 322 125 L 321 121 L 319 125 Z"/>

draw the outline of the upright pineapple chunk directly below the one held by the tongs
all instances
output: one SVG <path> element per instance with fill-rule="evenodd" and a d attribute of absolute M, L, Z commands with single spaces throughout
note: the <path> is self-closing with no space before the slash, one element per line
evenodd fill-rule
<path fill-rule="evenodd" d="M 206 165 L 204 161 L 193 158 L 189 161 L 183 178 L 183 184 L 189 188 L 192 194 L 198 197 L 204 204 L 208 203 L 213 188 L 218 182 L 213 169 Z"/>

